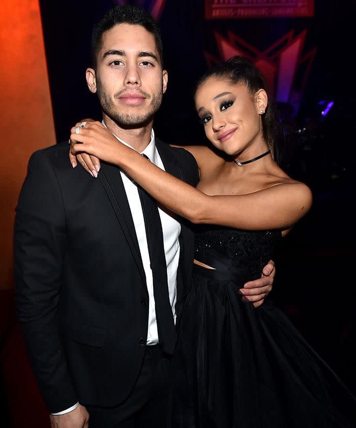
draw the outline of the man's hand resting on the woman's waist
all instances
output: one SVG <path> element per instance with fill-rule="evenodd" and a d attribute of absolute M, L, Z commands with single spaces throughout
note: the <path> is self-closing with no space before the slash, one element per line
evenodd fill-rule
<path fill-rule="evenodd" d="M 275 278 L 276 269 L 273 260 L 262 269 L 262 276 L 258 280 L 249 281 L 241 288 L 241 292 L 250 302 L 253 302 L 255 308 L 258 308 L 264 301 L 265 297 L 272 290 L 273 280 Z"/>

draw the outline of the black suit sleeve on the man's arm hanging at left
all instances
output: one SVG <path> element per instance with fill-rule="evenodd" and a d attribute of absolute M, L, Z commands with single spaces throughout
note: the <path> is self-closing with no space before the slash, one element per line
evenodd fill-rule
<path fill-rule="evenodd" d="M 35 152 L 28 163 L 16 207 L 14 276 L 28 356 L 49 412 L 56 413 L 73 406 L 78 397 L 58 330 L 66 220 L 50 154 Z"/>

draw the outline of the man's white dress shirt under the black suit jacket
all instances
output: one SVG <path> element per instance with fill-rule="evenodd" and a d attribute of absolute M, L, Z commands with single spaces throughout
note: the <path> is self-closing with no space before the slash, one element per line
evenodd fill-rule
<path fill-rule="evenodd" d="M 105 126 L 104 123 L 103 125 Z M 118 138 L 116 135 L 115 137 L 123 144 L 126 144 L 127 146 L 131 147 L 121 138 Z M 151 162 L 153 162 L 158 167 L 164 170 L 163 162 L 156 148 L 155 133 L 153 130 L 151 131 L 151 141 L 141 154 L 146 155 L 151 160 Z M 149 249 L 147 247 L 146 229 L 144 226 L 141 201 L 138 195 L 138 190 L 135 182 L 123 171 L 120 171 L 120 174 L 123 179 L 126 196 L 130 205 L 131 215 L 138 240 L 138 246 L 141 253 L 143 269 L 146 276 L 147 290 L 149 292 L 149 327 L 147 330 L 147 345 L 155 345 L 158 343 L 159 338 L 156 321 L 155 298 L 153 293 L 153 277 L 152 270 L 150 267 L 150 255 Z M 163 231 L 164 252 L 167 264 L 169 300 L 172 307 L 172 313 L 175 322 L 176 279 L 180 256 L 179 235 L 181 233 L 181 225 L 162 209 L 158 208 L 158 211 L 161 218 Z M 72 410 L 76 409 L 78 404 L 79 403 L 76 403 L 74 406 L 70 407 L 69 409 L 63 410 L 62 412 L 52 413 L 52 415 L 62 415 L 65 413 L 69 413 Z"/>

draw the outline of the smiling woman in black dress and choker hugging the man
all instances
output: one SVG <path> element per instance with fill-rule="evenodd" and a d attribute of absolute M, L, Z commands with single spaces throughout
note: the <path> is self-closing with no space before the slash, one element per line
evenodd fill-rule
<path fill-rule="evenodd" d="M 260 73 L 233 57 L 198 82 L 195 104 L 214 148 L 195 156 L 195 189 L 118 144 L 100 123 L 72 128 L 72 153 L 118 165 L 168 209 L 197 224 L 194 289 L 175 358 L 173 426 L 351 427 L 356 401 L 287 317 L 241 300 L 280 238 L 312 204 L 273 159 L 277 120 Z M 77 124 L 78 125 L 78 124 Z M 223 152 L 221 156 L 220 152 Z"/>

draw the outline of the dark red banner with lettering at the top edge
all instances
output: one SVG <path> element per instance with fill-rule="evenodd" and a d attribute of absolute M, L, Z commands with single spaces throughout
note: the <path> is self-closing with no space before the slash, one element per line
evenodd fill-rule
<path fill-rule="evenodd" d="M 205 19 L 285 18 L 314 15 L 314 0 L 205 0 Z"/>

